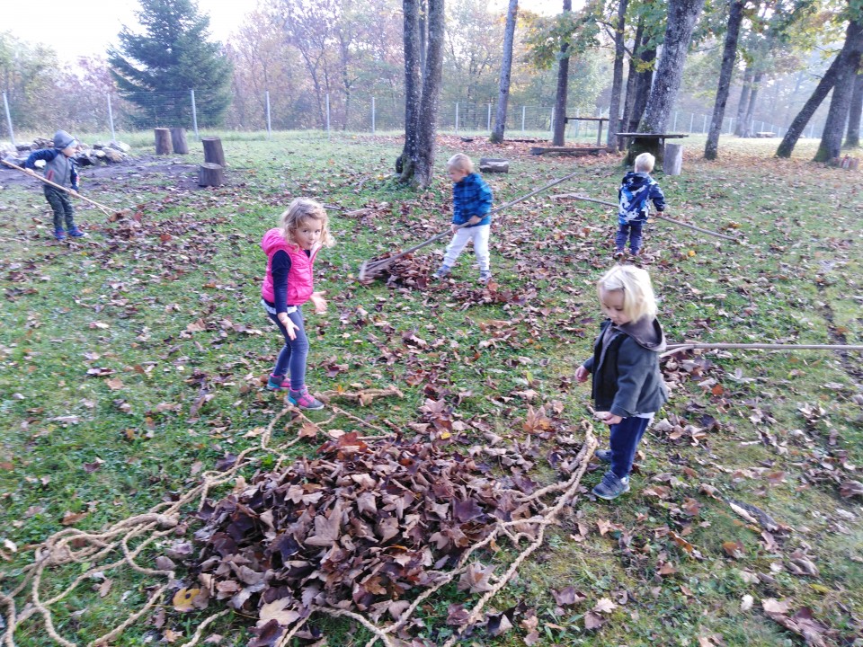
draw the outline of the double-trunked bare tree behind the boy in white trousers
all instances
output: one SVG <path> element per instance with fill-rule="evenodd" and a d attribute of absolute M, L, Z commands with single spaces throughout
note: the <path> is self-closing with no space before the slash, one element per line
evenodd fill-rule
<path fill-rule="evenodd" d="M 405 149 L 396 171 L 401 173 L 402 182 L 424 189 L 432 182 L 434 170 L 434 138 L 443 69 L 444 0 L 428 0 L 428 48 L 422 87 L 419 84 L 422 41 L 419 0 L 403 0 L 402 4 L 405 15 Z"/>

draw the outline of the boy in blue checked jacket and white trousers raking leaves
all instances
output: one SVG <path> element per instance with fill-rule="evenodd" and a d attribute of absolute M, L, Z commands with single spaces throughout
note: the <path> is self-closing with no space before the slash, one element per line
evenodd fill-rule
<path fill-rule="evenodd" d="M 474 163 L 464 153 L 458 153 L 447 162 L 452 180 L 452 241 L 443 255 L 443 264 L 432 276 L 443 279 L 452 270 L 458 255 L 467 241 L 474 242 L 474 253 L 479 263 L 479 282 L 492 278 L 488 263 L 488 235 L 492 228 L 492 190 L 474 173 Z"/>

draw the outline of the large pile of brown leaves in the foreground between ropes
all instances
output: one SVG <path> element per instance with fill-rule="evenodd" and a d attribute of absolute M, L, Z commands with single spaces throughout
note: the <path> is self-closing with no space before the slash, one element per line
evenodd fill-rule
<path fill-rule="evenodd" d="M 498 522 L 538 511 L 517 481 L 428 442 L 371 446 L 351 432 L 319 454 L 200 512 L 191 571 L 203 594 L 257 617 L 250 647 L 277 643 L 315 607 L 397 618 L 409 592 L 440 581 Z"/>

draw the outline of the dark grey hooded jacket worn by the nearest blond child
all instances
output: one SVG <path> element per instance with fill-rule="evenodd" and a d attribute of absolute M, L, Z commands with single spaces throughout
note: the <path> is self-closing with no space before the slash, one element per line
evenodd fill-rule
<path fill-rule="evenodd" d="M 656 319 L 613 326 L 609 339 L 608 319 L 601 324 L 593 357 L 584 368 L 593 374 L 592 398 L 596 411 L 621 418 L 636 413 L 654 413 L 668 402 L 668 390 L 659 370 L 659 354 L 665 350 L 663 328 Z"/>

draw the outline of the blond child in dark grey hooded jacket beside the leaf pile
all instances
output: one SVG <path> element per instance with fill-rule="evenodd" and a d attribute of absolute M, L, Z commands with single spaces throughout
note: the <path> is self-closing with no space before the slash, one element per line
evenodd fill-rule
<path fill-rule="evenodd" d="M 629 472 L 645 430 L 668 391 L 659 369 L 665 350 L 663 327 L 656 320 L 650 275 L 632 265 L 617 265 L 597 282 L 602 323 L 593 356 L 575 371 L 575 379 L 593 376 L 596 417 L 609 425 L 609 450 L 596 456 L 610 463 L 593 494 L 611 500 L 629 490 Z"/>

